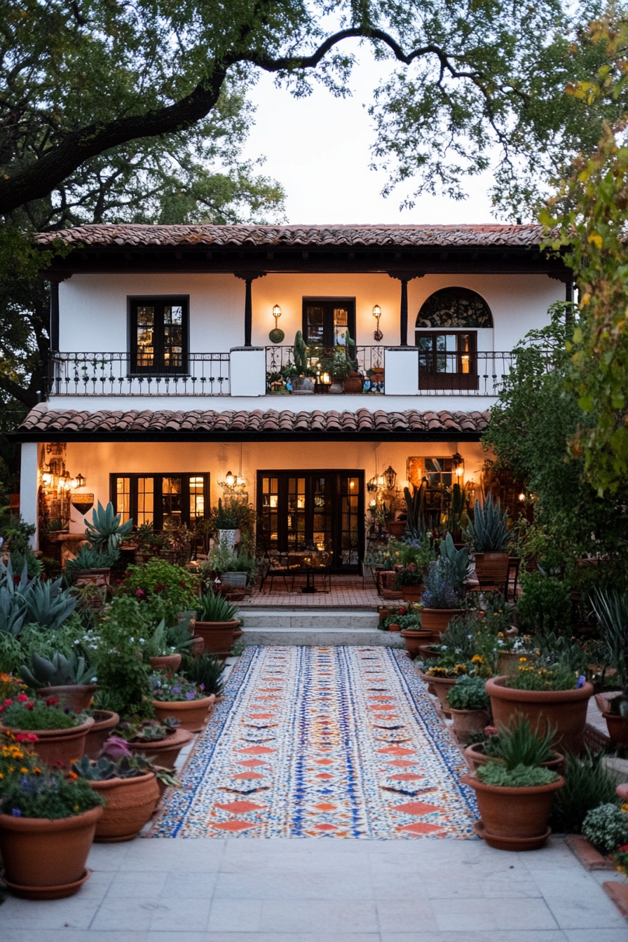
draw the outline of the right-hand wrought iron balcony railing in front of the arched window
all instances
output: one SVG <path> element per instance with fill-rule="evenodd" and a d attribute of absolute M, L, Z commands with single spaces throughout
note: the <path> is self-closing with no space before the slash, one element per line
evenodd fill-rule
<path fill-rule="evenodd" d="M 419 350 L 418 390 L 422 396 L 499 396 L 512 363 L 510 352 Z"/>

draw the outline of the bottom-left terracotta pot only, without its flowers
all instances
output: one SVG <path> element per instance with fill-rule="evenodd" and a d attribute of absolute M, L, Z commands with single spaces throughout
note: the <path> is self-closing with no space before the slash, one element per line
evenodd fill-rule
<path fill-rule="evenodd" d="M 103 808 L 73 818 L 13 818 L 0 815 L 2 877 L 26 900 L 72 896 L 89 877 L 85 869 Z"/>

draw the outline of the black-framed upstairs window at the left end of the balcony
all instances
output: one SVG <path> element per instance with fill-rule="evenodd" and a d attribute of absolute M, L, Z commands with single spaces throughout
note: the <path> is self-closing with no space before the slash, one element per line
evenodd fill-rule
<path fill-rule="evenodd" d="M 129 318 L 133 373 L 187 372 L 187 296 L 129 298 Z"/>

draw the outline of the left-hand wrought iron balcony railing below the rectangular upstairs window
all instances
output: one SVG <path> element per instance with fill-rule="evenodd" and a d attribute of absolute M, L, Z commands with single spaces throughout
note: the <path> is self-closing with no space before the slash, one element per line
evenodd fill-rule
<path fill-rule="evenodd" d="M 54 353 L 50 396 L 229 396 L 229 353 L 188 353 L 185 369 L 134 369 L 129 353 Z"/>

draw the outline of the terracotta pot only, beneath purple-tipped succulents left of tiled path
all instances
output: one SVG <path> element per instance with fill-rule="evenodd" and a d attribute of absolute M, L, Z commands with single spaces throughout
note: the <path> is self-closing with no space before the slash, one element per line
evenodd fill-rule
<path fill-rule="evenodd" d="M 105 814 L 96 824 L 97 843 L 112 844 L 133 840 L 150 819 L 159 801 L 159 788 L 153 771 L 137 778 L 111 778 L 89 782 L 106 801 Z"/>

